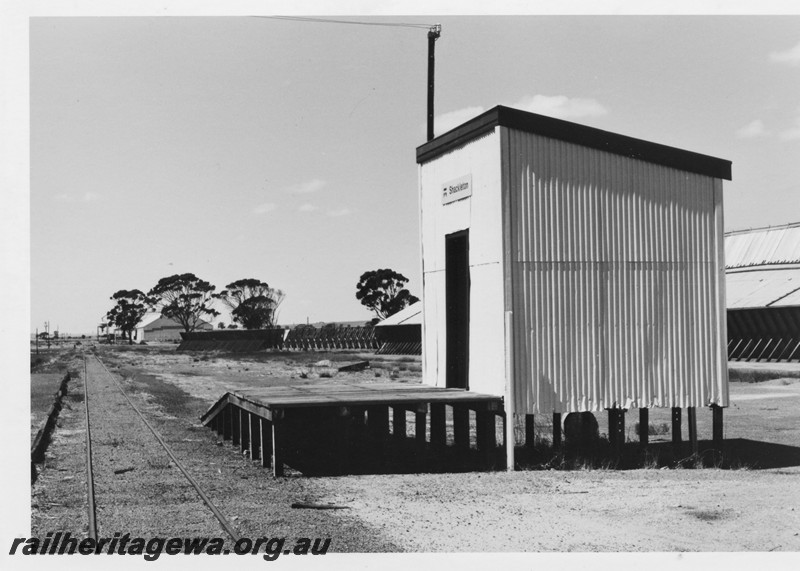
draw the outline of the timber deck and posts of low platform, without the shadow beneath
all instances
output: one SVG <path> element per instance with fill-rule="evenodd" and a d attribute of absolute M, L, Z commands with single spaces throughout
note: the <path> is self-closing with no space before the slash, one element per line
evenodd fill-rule
<path fill-rule="evenodd" d="M 395 442 L 406 440 L 406 412 L 410 411 L 415 415 L 415 455 L 444 447 L 446 406 L 452 409 L 454 445 L 461 449 L 469 449 L 469 411 L 475 411 L 477 448 L 485 465 L 492 467 L 497 446 L 495 423 L 497 416 L 503 416 L 502 398 L 462 389 L 405 383 L 252 388 L 226 393 L 201 422 L 247 451 L 252 459 L 260 459 L 262 466 L 271 464 L 273 474 L 280 476 L 287 444 L 312 425 L 318 425 L 318 434 L 334 435 L 343 450 L 357 434 L 366 434 L 376 443 L 375 454 L 381 455 L 390 438 L 389 409 Z M 430 438 L 426 440 L 428 428 Z M 346 459 L 346 450 L 341 456 Z"/>

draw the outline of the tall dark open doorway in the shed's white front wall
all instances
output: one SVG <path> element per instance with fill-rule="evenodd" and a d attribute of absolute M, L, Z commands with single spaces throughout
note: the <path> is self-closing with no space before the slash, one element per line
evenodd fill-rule
<path fill-rule="evenodd" d="M 445 236 L 447 387 L 469 389 L 469 230 Z"/>

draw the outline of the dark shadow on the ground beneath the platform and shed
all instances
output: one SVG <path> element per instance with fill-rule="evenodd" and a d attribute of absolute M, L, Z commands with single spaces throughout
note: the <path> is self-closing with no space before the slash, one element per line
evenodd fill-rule
<path fill-rule="evenodd" d="M 658 442 L 646 450 L 638 443 L 628 443 L 617 455 L 607 441 L 601 441 L 592 451 L 519 447 L 515 456 L 520 470 L 764 470 L 800 466 L 800 447 L 742 438 L 726 440 L 721 451 L 710 440 L 701 440 L 696 454 L 692 454 L 688 442 L 682 443 L 677 452 L 671 442 Z M 295 432 L 293 443 L 286 450 L 286 464 L 305 476 L 439 473 L 502 470 L 505 457 L 501 447 L 482 454 L 474 447 L 419 447 L 412 438 L 397 440 L 391 435 L 376 439 L 368 433 L 351 433 L 342 442 L 335 431 L 322 429 Z"/>

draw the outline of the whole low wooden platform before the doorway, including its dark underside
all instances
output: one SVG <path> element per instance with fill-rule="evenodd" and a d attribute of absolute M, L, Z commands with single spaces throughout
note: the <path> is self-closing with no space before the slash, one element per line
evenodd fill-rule
<path fill-rule="evenodd" d="M 404 383 L 228 392 L 201 417 L 274 476 L 284 465 L 305 474 L 496 469 L 504 420 L 501 397 Z"/>

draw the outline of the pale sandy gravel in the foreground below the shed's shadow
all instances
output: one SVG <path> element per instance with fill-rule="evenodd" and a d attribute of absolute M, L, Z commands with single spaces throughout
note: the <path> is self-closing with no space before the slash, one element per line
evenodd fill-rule
<path fill-rule="evenodd" d="M 409 551 L 797 551 L 800 470 L 533 471 L 329 478 Z"/>

